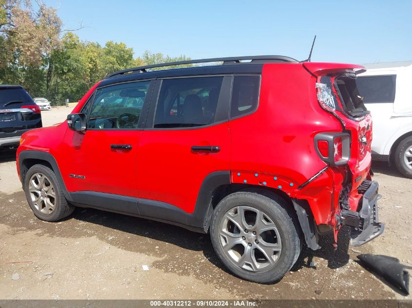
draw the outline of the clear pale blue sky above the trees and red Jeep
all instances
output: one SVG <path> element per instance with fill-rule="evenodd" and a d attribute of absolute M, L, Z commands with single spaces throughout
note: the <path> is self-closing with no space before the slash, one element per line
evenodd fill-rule
<path fill-rule="evenodd" d="M 193 59 L 279 54 L 298 60 L 412 60 L 411 0 L 43 0 L 64 29 L 100 45 Z"/>

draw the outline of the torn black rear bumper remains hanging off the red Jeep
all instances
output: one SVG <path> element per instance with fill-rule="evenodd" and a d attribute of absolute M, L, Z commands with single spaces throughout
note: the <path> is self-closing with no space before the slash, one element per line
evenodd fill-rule
<path fill-rule="evenodd" d="M 359 212 L 344 210 L 341 212 L 343 225 L 351 226 L 351 245 L 360 246 L 383 233 L 385 225 L 379 222 L 377 201 L 379 184 L 376 181 L 364 181 L 366 190 L 361 200 Z"/>

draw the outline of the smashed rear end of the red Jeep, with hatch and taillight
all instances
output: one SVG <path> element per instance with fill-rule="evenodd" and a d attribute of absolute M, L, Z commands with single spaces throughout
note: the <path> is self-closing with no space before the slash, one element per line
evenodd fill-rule
<path fill-rule="evenodd" d="M 342 127 L 340 132 L 315 137 L 319 156 L 334 174 L 335 240 L 340 227 L 346 224 L 357 232 L 353 233 L 353 245 L 361 245 L 383 232 L 383 224 L 377 221 L 377 198 L 365 199 L 367 195 L 378 196 L 378 185 L 372 181 L 371 171 L 372 116 L 356 85 L 355 70 L 363 67 L 340 63 L 303 65 L 316 78 L 320 106 L 334 115 Z M 340 135 L 346 136 L 349 143 L 343 142 Z"/>

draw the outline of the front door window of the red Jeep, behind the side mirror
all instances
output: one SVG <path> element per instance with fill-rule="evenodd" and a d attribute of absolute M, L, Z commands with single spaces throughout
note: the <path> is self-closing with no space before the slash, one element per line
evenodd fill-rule
<path fill-rule="evenodd" d="M 149 84 L 150 81 L 140 81 L 99 89 L 87 127 L 137 128 Z"/>

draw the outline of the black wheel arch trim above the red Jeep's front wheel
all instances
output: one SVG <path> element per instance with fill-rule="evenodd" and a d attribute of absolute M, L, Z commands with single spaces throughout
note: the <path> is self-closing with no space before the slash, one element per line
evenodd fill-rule
<path fill-rule="evenodd" d="M 24 150 L 19 153 L 19 170 L 20 170 L 21 185 L 23 189 L 24 189 L 24 179 L 26 176 L 26 172 L 28 171 L 25 169 L 23 162 L 27 159 L 41 160 L 41 161 L 45 161 L 49 163 L 53 168 L 57 181 L 59 181 L 59 185 L 60 185 L 61 190 L 63 191 L 64 197 L 69 202 L 73 202 L 73 199 L 70 196 L 70 193 L 66 189 L 66 185 L 64 184 L 63 178 L 61 177 L 59 165 L 57 164 L 54 156 L 48 152 L 39 151 L 39 150 Z"/>

